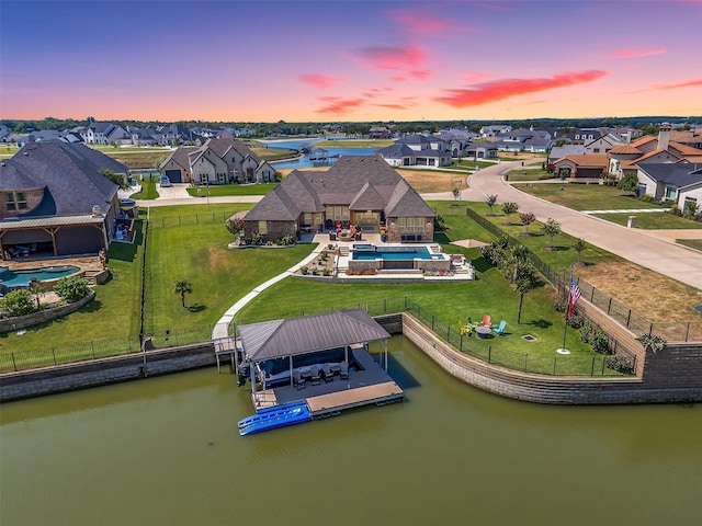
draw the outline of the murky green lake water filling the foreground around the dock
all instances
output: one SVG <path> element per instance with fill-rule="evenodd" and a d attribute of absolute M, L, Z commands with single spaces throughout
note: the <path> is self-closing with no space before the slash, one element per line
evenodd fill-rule
<path fill-rule="evenodd" d="M 390 341 L 406 402 L 241 437 L 215 368 L 2 405 L 2 525 L 692 525 L 702 405 L 488 395 Z"/>

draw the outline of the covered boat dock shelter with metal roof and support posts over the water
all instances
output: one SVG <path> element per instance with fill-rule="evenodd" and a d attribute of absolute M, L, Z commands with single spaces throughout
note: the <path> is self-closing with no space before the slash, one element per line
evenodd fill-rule
<path fill-rule="evenodd" d="M 321 364 L 330 359 L 336 350 L 349 363 L 350 348 L 372 341 L 384 341 L 383 358 L 387 371 L 387 339 L 390 334 L 361 309 L 324 315 L 273 320 L 239 325 L 241 359 L 248 365 L 252 396 L 256 397 L 257 377 L 262 389 L 267 384 L 293 384 L 293 371 L 301 365 Z M 281 363 L 286 366 L 281 369 Z M 272 369 L 274 361 L 278 370 Z M 241 374 L 247 367 L 240 367 Z"/>

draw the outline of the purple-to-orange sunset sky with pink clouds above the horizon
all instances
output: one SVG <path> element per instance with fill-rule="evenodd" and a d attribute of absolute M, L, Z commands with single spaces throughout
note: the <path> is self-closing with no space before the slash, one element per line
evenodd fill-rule
<path fill-rule="evenodd" d="M 0 0 L 0 118 L 702 114 L 702 0 Z"/>

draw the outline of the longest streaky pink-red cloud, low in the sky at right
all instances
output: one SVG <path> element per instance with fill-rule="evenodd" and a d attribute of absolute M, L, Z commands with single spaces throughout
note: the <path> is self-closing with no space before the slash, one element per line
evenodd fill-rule
<path fill-rule="evenodd" d="M 472 89 L 445 90 L 445 96 L 435 98 L 434 101 L 442 102 L 453 107 L 479 106 L 490 102 L 502 101 L 512 96 L 536 93 L 567 85 L 592 82 L 604 76 L 607 71 L 580 71 L 563 75 L 555 75 L 547 79 L 503 79 L 494 82 L 476 84 Z"/>

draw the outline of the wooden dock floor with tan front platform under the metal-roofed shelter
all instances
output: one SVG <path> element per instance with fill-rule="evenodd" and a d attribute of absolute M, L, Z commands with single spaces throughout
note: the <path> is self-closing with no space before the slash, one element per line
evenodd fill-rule
<path fill-rule="evenodd" d="M 306 382 L 297 389 L 286 385 L 251 396 L 254 409 L 261 410 L 291 402 L 305 401 L 313 419 L 335 416 L 341 411 L 362 405 L 384 405 L 405 398 L 403 389 L 385 373 L 364 348 L 354 348 L 353 355 L 363 370 L 349 370 L 349 379 L 333 377 L 318 385 Z"/>

